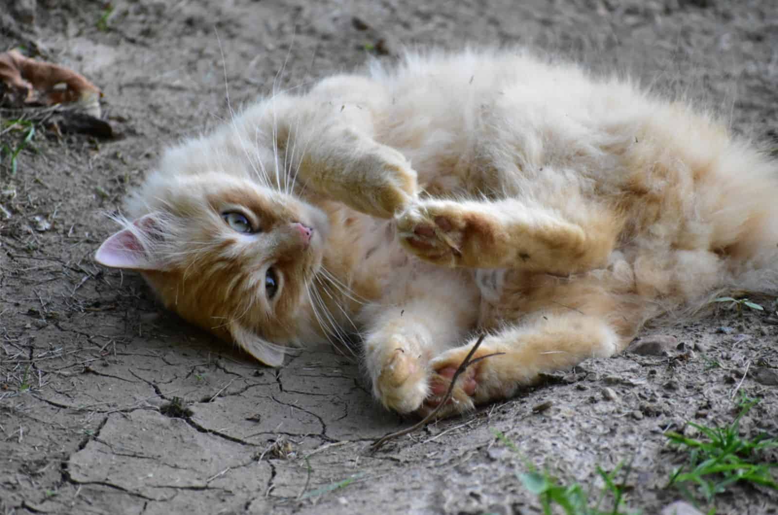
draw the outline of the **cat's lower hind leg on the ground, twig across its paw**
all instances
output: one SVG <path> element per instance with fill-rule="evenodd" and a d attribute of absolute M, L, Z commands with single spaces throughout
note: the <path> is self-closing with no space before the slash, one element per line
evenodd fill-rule
<path fill-rule="evenodd" d="M 473 363 L 457 379 L 441 416 L 473 405 L 508 398 L 538 382 L 541 373 L 569 369 L 591 357 L 612 356 L 632 340 L 657 307 L 633 291 L 629 271 L 616 266 L 571 279 L 513 272 L 503 297 L 491 309 L 496 318 L 479 324 L 495 328 L 476 349 Z M 491 315 L 489 315 L 491 316 Z M 516 321 L 505 326 L 500 321 Z M 457 367 L 477 338 L 433 358 L 430 398 L 422 412 L 440 403 Z"/>

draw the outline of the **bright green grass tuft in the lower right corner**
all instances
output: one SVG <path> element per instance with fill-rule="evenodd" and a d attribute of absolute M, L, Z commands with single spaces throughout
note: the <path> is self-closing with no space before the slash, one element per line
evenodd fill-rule
<path fill-rule="evenodd" d="M 689 454 L 687 463 L 671 474 L 669 486 L 675 486 L 691 500 L 695 500 L 695 496 L 690 487 L 696 486 L 699 496 L 709 504 L 736 482 L 778 489 L 771 471 L 778 467 L 778 463 L 765 462 L 762 456 L 763 450 L 778 447 L 778 440 L 763 434 L 751 438 L 739 435 L 741 419 L 760 400 L 741 398 L 738 403 L 740 412 L 727 426 L 708 427 L 687 422 L 701 433 L 699 439 L 671 431 L 664 433 L 679 450 Z"/>

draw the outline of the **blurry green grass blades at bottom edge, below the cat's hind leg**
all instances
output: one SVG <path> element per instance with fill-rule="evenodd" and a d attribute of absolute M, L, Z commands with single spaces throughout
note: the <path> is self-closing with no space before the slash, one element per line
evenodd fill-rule
<path fill-rule="evenodd" d="M 519 454 L 520 450 L 516 445 L 506 438 L 503 433 L 497 430 L 493 431 L 497 440 Z M 638 512 L 622 511 L 629 510 L 624 499 L 625 487 L 623 482 L 629 475 L 629 467 L 624 468 L 622 464 L 616 466 L 613 471 L 605 471 L 597 467 L 597 473 L 605 482 L 605 486 L 599 492 L 592 492 L 591 489 L 584 489 L 579 483 L 564 485 L 548 471 L 540 472 L 528 461 L 522 459 L 527 468 L 526 472 L 517 473 L 517 478 L 524 485 L 524 488 L 538 496 L 541 509 L 544 515 L 559 513 L 559 508 L 565 515 L 630 515 Z M 624 471 L 622 483 L 617 482 L 619 472 Z M 604 506 L 611 506 L 605 508 Z"/>

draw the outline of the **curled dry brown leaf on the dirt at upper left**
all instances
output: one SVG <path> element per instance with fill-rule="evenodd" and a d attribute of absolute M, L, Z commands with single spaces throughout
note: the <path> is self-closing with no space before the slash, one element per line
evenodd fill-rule
<path fill-rule="evenodd" d="M 0 54 L 0 80 L 16 95 L 12 101 L 17 103 L 51 105 L 79 101 L 96 104 L 103 96 L 100 88 L 83 75 L 59 65 L 26 58 L 16 50 Z"/>

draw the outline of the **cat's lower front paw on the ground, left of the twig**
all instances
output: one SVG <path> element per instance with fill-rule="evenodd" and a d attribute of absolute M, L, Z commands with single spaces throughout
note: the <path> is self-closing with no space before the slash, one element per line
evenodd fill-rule
<path fill-rule="evenodd" d="M 426 363 L 415 345 L 408 344 L 401 335 L 391 338 L 373 380 L 381 404 L 400 413 L 415 412 L 429 395 Z"/>

